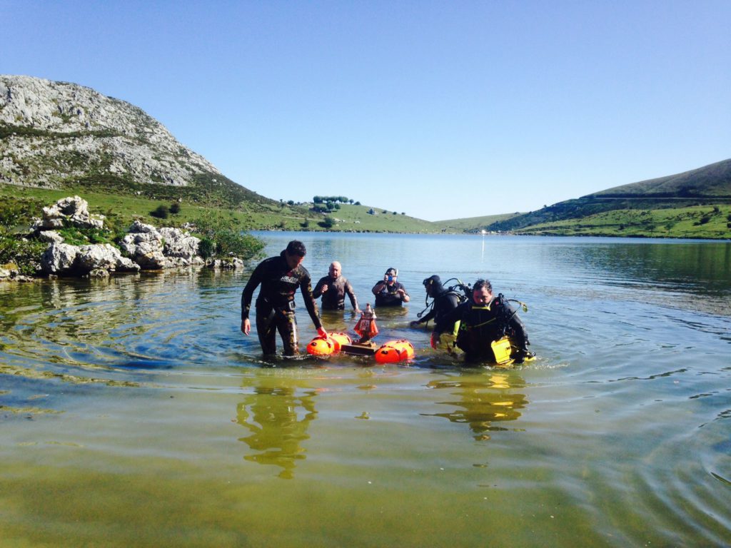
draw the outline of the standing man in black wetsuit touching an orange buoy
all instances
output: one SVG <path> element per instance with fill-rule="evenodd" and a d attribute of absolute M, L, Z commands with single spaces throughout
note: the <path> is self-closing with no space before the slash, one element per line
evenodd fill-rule
<path fill-rule="evenodd" d="M 327 337 L 322 328 L 317 304 L 312 296 L 310 273 L 302 266 L 307 250 L 305 245 L 292 240 L 279 256 L 259 263 L 251 273 L 249 283 L 241 293 L 241 331 L 251 332 L 249 309 L 254 289 L 261 284 L 257 297 L 257 335 L 265 355 L 276 354 L 276 331 L 281 335 L 285 356 L 296 356 L 298 348 L 297 318 L 295 317 L 295 292 L 300 288 L 305 307 L 315 324 L 317 334 Z"/>

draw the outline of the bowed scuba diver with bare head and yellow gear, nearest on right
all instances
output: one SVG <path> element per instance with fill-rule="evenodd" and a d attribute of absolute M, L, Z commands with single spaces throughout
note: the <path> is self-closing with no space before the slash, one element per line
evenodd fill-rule
<path fill-rule="evenodd" d="M 528 334 L 518 312 L 502 294 L 493 296 L 493 286 L 488 280 L 477 280 L 472 286 L 471 299 L 436 321 L 431 334 L 432 348 L 436 349 L 442 333 L 452 330 L 458 321 L 456 345 L 464 351 L 467 361 L 496 361 L 492 343 L 506 335 L 515 347 L 512 355 L 515 362 L 535 357 L 528 349 Z"/>

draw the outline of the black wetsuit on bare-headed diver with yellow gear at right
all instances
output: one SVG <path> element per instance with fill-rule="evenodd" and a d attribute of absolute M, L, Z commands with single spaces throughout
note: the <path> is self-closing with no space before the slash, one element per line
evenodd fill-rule
<path fill-rule="evenodd" d="M 508 335 L 518 346 L 518 355 L 529 353 L 526 328 L 501 295 L 493 297 L 488 305 L 477 305 L 473 300 L 463 302 L 437 322 L 434 333 L 441 335 L 449 331 L 455 321 L 460 321 L 457 346 L 469 361 L 494 361 L 490 345 L 503 335 Z"/>

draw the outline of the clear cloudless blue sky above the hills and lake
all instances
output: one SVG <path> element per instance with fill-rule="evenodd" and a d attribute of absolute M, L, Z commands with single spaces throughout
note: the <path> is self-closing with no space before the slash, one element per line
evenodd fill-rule
<path fill-rule="evenodd" d="M 273 199 L 430 221 L 731 157 L 730 0 L 0 0 L 0 73 L 136 104 Z"/>

